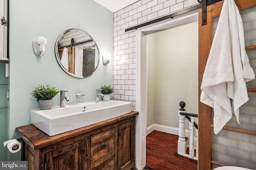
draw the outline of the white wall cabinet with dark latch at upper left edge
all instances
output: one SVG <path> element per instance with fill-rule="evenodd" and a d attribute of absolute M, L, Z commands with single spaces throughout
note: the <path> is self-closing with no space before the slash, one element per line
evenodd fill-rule
<path fill-rule="evenodd" d="M 0 0 L 0 62 L 8 62 L 7 58 L 7 0 Z"/>

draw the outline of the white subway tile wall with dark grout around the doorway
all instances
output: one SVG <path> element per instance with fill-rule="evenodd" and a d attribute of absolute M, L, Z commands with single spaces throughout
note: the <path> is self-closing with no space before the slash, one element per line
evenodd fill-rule
<path fill-rule="evenodd" d="M 139 0 L 114 13 L 114 99 L 136 107 L 136 33 L 125 29 L 198 4 L 197 0 Z"/>

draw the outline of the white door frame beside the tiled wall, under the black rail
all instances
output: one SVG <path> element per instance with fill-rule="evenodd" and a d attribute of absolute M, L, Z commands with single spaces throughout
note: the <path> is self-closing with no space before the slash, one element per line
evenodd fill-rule
<path fill-rule="evenodd" d="M 140 114 L 135 122 L 135 165 L 141 170 L 146 165 L 147 129 L 147 80 L 146 80 L 146 35 L 198 21 L 198 10 L 177 16 L 169 21 L 160 21 L 136 30 L 136 111 Z"/>

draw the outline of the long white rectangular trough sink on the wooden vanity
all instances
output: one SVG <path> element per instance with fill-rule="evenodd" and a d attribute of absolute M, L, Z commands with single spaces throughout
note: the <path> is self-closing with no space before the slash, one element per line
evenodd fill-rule
<path fill-rule="evenodd" d="M 85 102 L 49 110 L 33 109 L 30 111 L 30 122 L 47 135 L 54 136 L 130 112 L 130 102 Z"/>

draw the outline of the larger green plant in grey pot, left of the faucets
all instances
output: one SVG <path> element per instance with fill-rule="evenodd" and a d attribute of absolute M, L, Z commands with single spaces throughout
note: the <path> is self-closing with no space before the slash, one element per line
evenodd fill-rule
<path fill-rule="evenodd" d="M 44 86 L 39 84 L 38 87 L 31 93 L 32 96 L 39 101 L 41 110 L 48 110 L 52 108 L 52 99 L 60 92 L 56 86 L 52 87 L 49 84 Z"/>

